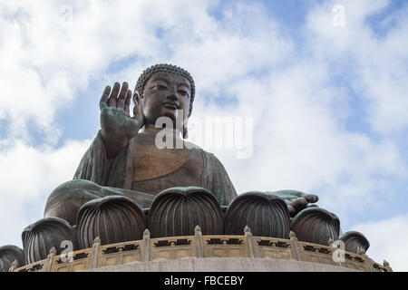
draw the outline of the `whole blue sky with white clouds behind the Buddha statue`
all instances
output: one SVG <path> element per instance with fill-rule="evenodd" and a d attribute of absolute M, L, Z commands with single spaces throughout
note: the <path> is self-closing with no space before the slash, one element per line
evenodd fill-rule
<path fill-rule="evenodd" d="M 193 116 L 254 118 L 252 158 L 210 150 L 238 192 L 316 193 L 343 231 L 369 237 L 371 256 L 408 269 L 382 239 L 408 232 L 406 2 L 73 1 L 72 15 L 63 5 L 0 5 L 0 244 L 20 245 L 72 179 L 104 86 L 174 63 L 196 81 Z M 332 24 L 334 5 L 345 26 Z"/>

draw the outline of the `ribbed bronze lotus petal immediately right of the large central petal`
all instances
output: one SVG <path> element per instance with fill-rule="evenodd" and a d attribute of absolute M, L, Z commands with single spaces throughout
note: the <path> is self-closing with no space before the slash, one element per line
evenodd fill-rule
<path fill-rule="evenodd" d="M 235 198 L 225 216 L 226 235 L 239 235 L 248 226 L 254 236 L 288 238 L 290 219 L 284 199 L 251 191 Z"/>

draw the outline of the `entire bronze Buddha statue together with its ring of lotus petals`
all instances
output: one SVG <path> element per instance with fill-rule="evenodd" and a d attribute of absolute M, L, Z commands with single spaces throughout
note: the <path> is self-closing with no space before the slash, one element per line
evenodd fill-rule
<path fill-rule="evenodd" d="M 8 265 L 10 256 L 19 256 L 29 264 L 52 247 L 60 253 L 62 241 L 71 240 L 75 250 L 92 247 L 95 237 L 102 244 L 141 239 L 145 228 L 151 237 L 189 236 L 199 225 L 204 235 L 240 235 L 249 226 L 260 237 L 288 238 L 292 229 L 312 243 L 339 238 L 339 219 L 314 208 L 316 195 L 280 190 L 238 196 L 219 160 L 185 140 L 194 97 L 191 75 L 171 64 L 146 69 L 134 93 L 127 82 L 107 86 L 101 130 L 73 180 L 54 189 L 44 218 L 24 229 L 24 258 L 23 251 L 5 247 L 0 260 Z M 160 118 L 170 126 L 158 126 Z M 181 146 L 158 146 L 163 131 L 166 142 Z M 355 251 L 368 248 L 358 233 L 347 238 Z"/>

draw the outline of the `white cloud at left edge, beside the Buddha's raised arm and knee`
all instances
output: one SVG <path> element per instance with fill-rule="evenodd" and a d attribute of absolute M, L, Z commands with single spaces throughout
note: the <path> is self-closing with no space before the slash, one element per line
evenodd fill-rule
<path fill-rule="evenodd" d="M 91 140 L 67 141 L 54 150 L 21 140 L 0 142 L 0 245 L 21 247 L 24 227 L 43 218 L 46 198 L 73 174 Z"/>

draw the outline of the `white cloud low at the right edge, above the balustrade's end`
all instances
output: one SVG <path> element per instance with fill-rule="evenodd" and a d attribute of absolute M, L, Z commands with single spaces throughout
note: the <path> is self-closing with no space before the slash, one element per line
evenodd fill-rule
<path fill-rule="evenodd" d="M 386 260 L 393 271 L 408 271 L 408 215 L 358 224 L 353 230 L 370 241 L 367 255 L 375 262 Z"/>

